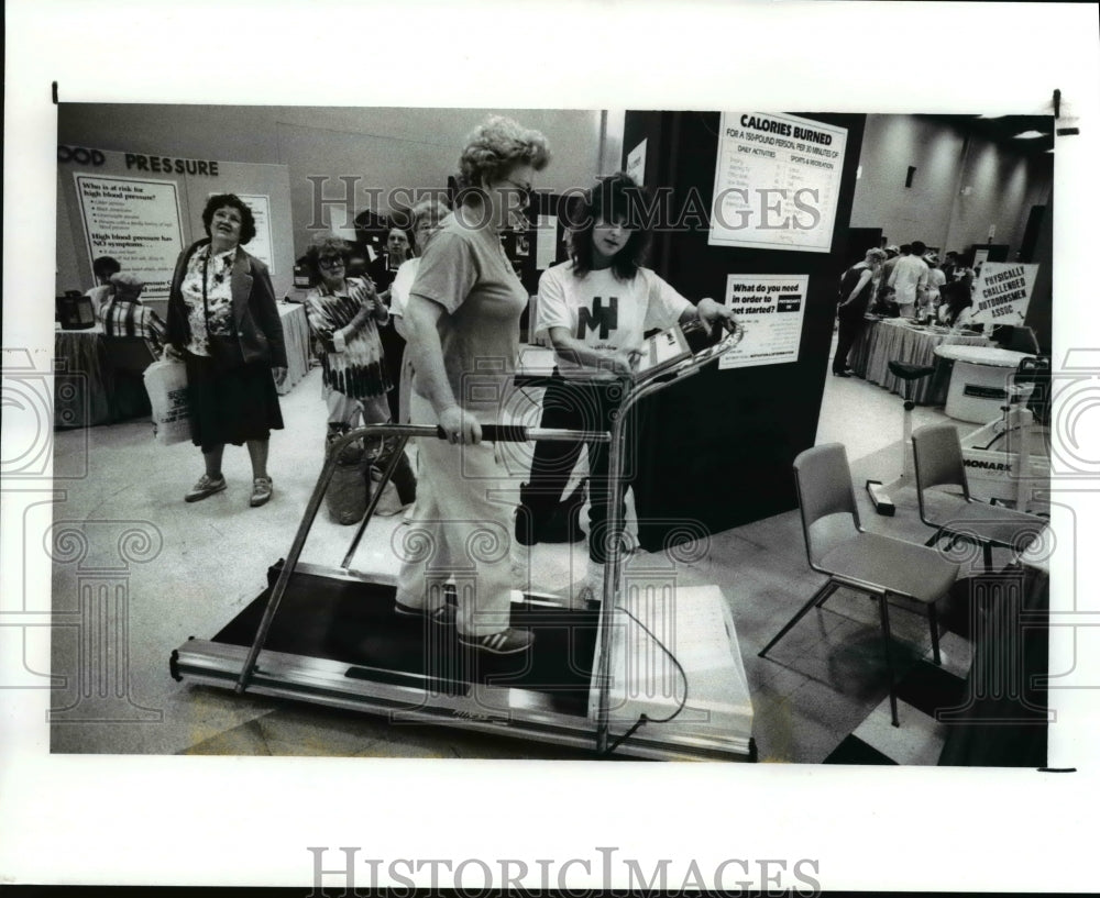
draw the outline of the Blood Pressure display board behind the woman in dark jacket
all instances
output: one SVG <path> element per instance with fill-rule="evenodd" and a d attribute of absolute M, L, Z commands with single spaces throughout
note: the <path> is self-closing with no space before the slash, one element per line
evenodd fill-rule
<path fill-rule="evenodd" d="M 58 146 L 57 295 L 92 287 L 92 259 L 111 256 L 145 281 L 143 301 L 163 311 L 176 259 L 206 236 L 202 210 L 216 193 L 237 193 L 253 210 L 257 234 L 244 248 L 285 296 L 294 275 L 285 165 Z"/>

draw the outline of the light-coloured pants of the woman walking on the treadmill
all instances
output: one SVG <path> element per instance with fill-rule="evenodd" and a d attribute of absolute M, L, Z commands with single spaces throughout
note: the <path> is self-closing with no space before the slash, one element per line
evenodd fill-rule
<path fill-rule="evenodd" d="M 438 421 L 431 404 L 414 392 L 414 424 Z M 438 608 L 443 585 L 454 578 L 458 629 L 485 636 L 509 625 L 512 529 L 515 497 L 510 479 L 494 457 L 492 443 L 451 445 L 425 439 L 417 444 L 419 484 L 411 524 L 398 528 L 402 555 L 397 601 L 410 608 Z M 493 498 L 491 498 L 493 497 Z"/>

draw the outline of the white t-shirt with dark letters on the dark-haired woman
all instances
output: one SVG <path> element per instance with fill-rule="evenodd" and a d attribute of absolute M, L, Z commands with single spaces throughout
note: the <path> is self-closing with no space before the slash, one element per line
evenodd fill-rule
<path fill-rule="evenodd" d="M 647 331 L 671 328 L 692 308 L 649 268 L 639 268 L 631 280 L 619 280 L 610 268 L 576 277 L 573 263 L 566 262 L 548 268 L 539 279 L 536 334 L 549 337 L 551 328 L 566 328 L 594 350 L 636 350 Z M 561 356 L 558 369 L 563 377 L 583 373 L 585 378 L 603 370 Z"/>

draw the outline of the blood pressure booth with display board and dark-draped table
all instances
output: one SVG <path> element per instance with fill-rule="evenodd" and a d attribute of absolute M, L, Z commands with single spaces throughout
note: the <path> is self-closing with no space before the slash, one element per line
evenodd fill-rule
<path fill-rule="evenodd" d="M 255 217 L 244 247 L 271 273 L 275 296 L 293 279 L 290 179 L 285 165 L 184 159 L 61 145 L 57 147 L 57 296 L 79 296 L 96 284 L 95 259 L 109 256 L 144 284 L 141 303 L 163 320 L 179 254 L 206 235 L 209 197 L 237 193 Z M 62 300 L 58 300 L 61 307 Z M 305 310 L 280 303 L 289 391 L 309 369 Z M 57 428 L 109 424 L 148 412 L 140 376 L 154 359 L 141 333 L 116 331 L 100 319 L 58 313 L 54 354 Z"/>

